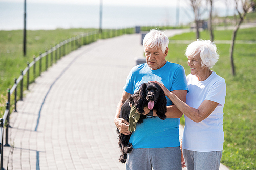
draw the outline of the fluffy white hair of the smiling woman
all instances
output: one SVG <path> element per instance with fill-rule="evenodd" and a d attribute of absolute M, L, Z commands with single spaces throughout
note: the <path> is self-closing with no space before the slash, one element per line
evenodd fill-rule
<path fill-rule="evenodd" d="M 208 68 L 212 68 L 219 59 L 216 45 L 210 40 L 197 39 L 196 41 L 188 45 L 185 54 L 187 57 L 196 56 L 197 54 L 199 54 L 202 60 L 201 66 L 205 66 Z"/>

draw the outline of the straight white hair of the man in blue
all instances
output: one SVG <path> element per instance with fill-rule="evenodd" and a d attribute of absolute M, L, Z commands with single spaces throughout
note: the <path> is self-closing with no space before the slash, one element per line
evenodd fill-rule
<path fill-rule="evenodd" d="M 164 53 L 169 45 L 169 38 L 161 31 L 152 29 L 143 39 L 143 46 L 149 48 L 161 48 Z"/>

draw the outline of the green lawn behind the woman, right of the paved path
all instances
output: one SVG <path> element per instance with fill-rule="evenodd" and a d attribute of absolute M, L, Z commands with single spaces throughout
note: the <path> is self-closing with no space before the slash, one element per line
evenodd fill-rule
<path fill-rule="evenodd" d="M 215 31 L 215 40 L 230 40 L 232 30 Z M 201 39 L 209 39 L 207 31 Z M 171 40 L 195 40 L 195 33 L 184 33 Z M 256 28 L 240 29 L 237 40 L 256 41 Z M 188 44 L 170 44 L 167 60 L 187 66 L 185 49 Z M 228 44 L 216 44 L 220 59 L 212 68 L 226 81 L 224 106 L 224 148 L 221 162 L 230 169 L 256 169 L 256 44 L 236 44 L 234 63 L 237 75 L 232 76 Z M 181 119 L 184 123 L 184 118 Z"/>

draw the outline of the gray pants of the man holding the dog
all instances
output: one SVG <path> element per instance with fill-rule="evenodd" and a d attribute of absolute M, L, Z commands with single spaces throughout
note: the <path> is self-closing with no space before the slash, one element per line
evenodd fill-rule
<path fill-rule="evenodd" d="M 129 170 L 181 170 L 180 147 L 138 148 L 127 155 Z"/>

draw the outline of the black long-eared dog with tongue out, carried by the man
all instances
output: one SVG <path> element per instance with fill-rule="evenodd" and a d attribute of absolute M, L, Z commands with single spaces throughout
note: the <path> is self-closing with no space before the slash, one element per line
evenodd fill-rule
<path fill-rule="evenodd" d="M 166 103 L 167 100 L 165 98 L 164 92 L 161 89 L 161 87 L 156 83 L 144 83 L 140 86 L 140 89 L 138 92 L 134 93 L 130 96 L 129 99 L 127 99 L 124 104 L 122 105 L 121 112 L 120 112 L 120 118 L 123 118 L 128 121 L 129 115 L 130 115 L 130 104 L 135 105 L 136 109 L 139 113 L 144 114 L 144 107 L 148 107 L 148 109 L 156 109 L 157 110 L 157 116 L 164 120 L 166 118 Z M 138 123 L 142 123 L 143 119 L 147 118 L 146 115 L 140 115 L 140 119 L 138 120 Z M 132 144 L 129 143 L 130 135 L 124 135 L 119 132 L 118 133 L 118 144 L 121 150 L 121 155 L 119 157 L 119 161 L 122 163 L 126 162 L 127 159 L 127 153 L 130 153 L 132 151 Z"/>

